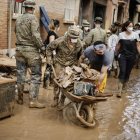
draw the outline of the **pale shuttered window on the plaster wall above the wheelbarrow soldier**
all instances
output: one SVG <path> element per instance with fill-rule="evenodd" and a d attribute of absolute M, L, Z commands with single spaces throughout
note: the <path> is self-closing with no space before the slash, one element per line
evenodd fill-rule
<path fill-rule="evenodd" d="M 66 0 L 64 23 L 74 23 L 76 0 Z"/>

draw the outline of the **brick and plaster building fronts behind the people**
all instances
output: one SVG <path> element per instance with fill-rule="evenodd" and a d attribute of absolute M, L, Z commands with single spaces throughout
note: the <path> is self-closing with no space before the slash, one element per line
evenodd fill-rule
<path fill-rule="evenodd" d="M 15 48 L 15 21 L 24 13 L 23 0 L 0 0 L 0 50 Z M 40 22 L 40 6 L 44 6 L 50 19 L 60 20 L 60 36 L 72 24 L 82 24 L 87 19 L 93 27 L 97 16 L 103 18 L 103 27 L 107 30 L 115 21 L 123 23 L 129 18 L 131 0 L 35 0 L 35 14 Z M 136 6 L 138 4 L 136 3 Z M 132 10 L 131 10 L 132 11 Z M 139 9 L 137 9 L 138 13 Z M 135 11 L 134 11 L 135 13 Z M 131 15 L 132 16 L 132 15 Z M 138 15 L 133 14 L 133 19 Z M 138 19 L 138 18 L 137 18 Z M 42 39 L 47 37 L 47 31 L 40 22 Z"/>

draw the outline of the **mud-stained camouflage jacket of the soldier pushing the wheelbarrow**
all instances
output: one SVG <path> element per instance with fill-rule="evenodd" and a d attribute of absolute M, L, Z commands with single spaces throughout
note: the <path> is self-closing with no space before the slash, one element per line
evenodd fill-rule
<path fill-rule="evenodd" d="M 78 42 L 73 46 L 72 49 L 68 47 L 67 37 L 60 37 L 51 42 L 46 51 L 47 57 L 52 56 L 53 50 L 56 50 L 55 61 L 63 66 L 72 66 L 78 63 L 79 57 L 82 53 L 82 42 L 78 39 Z"/>

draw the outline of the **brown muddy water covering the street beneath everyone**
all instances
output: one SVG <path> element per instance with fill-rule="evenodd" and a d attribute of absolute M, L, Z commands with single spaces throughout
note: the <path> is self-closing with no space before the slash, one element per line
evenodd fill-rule
<path fill-rule="evenodd" d="M 28 94 L 24 105 L 15 105 L 15 115 L 0 121 L 0 140 L 139 140 L 140 70 L 133 70 L 127 94 L 116 98 L 117 79 L 109 78 L 107 92 L 114 95 L 95 106 L 95 128 L 88 129 L 65 122 L 62 112 L 51 107 L 52 88 L 41 88 L 45 109 L 29 109 Z"/>

